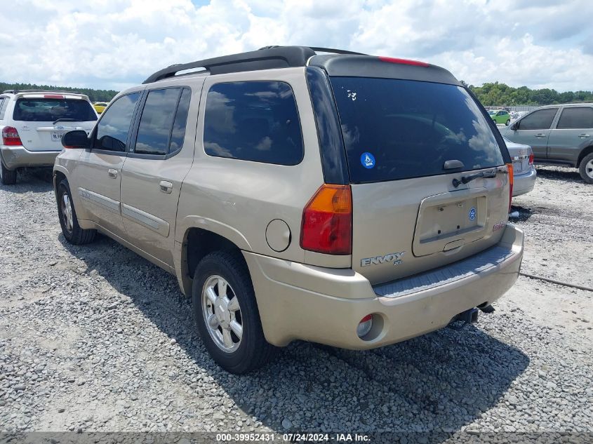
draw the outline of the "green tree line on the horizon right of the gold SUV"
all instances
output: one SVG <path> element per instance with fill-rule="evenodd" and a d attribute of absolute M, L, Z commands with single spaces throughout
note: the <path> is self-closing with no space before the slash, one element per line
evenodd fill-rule
<path fill-rule="evenodd" d="M 555 103 L 593 102 L 593 91 L 566 91 L 559 93 L 557 90 L 542 88 L 530 89 L 526 86 L 513 88 L 505 83 L 484 83 L 482 86 L 467 85 L 486 106 L 509 105 L 553 105 Z"/>

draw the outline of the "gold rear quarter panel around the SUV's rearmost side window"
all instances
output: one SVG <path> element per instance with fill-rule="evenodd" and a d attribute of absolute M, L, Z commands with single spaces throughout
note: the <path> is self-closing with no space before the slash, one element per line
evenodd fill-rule
<path fill-rule="evenodd" d="M 293 89 L 300 116 L 305 155 L 296 166 L 208 156 L 204 152 L 204 109 L 208 89 L 225 81 L 284 81 Z M 175 241 L 200 227 L 229 238 L 239 248 L 295 262 L 304 262 L 300 248 L 302 209 L 323 183 L 317 127 L 304 68 L 222 74 L 208 77 L 201 95 L 194 163 L 182 184 Z M 291 243 L 276 252 L 266 241 L 275 219 L 291 230 Z M 322 255 L 326 256 L 326 255 Z M 338 258 L 338 264 L 340 259 Z M 335 264 L 336 259 L 333 258 Z M 349 256 L 344 262 L 349 267 Z"/>

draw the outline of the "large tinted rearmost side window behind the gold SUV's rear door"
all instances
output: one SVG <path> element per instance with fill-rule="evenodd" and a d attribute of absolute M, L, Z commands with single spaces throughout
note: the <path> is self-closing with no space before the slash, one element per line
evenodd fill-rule
<path fill-rule="evenodd" d="M 302 135 L 291 86 L 280 81 L 212 86 L 206 97 L 204 149 L 210 156 L 300 163 Z"/>

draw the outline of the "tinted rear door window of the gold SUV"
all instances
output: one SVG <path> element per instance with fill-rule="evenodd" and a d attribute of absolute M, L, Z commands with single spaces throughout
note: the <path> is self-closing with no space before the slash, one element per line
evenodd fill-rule
<path fill-rule="evenodd" d="M 137 154 L 169 153 L 169 135 L 173 126 L 180 88 L 151 90 L 142 110 L 134 152 Z"/>

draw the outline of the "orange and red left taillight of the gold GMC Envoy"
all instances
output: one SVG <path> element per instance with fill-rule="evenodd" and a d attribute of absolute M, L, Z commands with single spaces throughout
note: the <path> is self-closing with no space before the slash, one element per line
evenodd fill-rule
<path fill-rule="evenodd" d="M 352 191 L 323 184 L 302 210 L 300 247 L 328 255 L 352 253 Z"/>

